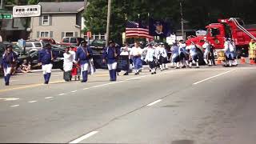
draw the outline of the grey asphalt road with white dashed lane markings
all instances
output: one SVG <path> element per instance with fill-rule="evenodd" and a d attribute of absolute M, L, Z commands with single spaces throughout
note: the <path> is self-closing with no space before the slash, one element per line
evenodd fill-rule
<path fill-rule="evenodd" d="M 254 144 L 256 66 L 221 66 L 49 85 L 41 72 L 0 84 L 0 142 Z M 1 79 L 2 80 L 2 79 Z"/>

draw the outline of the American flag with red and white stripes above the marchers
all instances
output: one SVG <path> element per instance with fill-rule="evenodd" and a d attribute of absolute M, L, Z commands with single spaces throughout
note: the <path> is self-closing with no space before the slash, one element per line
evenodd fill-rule
<path fill-rule="evenodd" d="M 138 22 L 128 21 L 126 22 L 126 38 L 154 38 L 150 35 L 148 28 L 142 28 Z"/>

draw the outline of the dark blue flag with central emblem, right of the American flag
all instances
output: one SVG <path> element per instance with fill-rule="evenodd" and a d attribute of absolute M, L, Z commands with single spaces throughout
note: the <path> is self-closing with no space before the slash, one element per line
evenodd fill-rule
<path fill-rule="evenodd" d="M 154 20 L 153 18 L 150 18 L 149 30 L 150 35 L 153 36 L 169 37 L 172 33 L 172 30 L 170 29 L 170 22 Z"/>

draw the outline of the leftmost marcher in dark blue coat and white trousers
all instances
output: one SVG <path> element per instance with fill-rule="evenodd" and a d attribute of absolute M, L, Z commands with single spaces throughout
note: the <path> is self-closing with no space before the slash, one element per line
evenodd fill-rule
<path fill-rule="evenodd" d="M 11 45 L 6 46 L 6 51 L 2 55 L 2 63 L 1 63 L 2 69 L 4 71 L 6 86 L 9 86 L 11 69 L 12 69 L 13 63 L 17 61 L 17 58 L 18 56 L 17 54 L 14 53 L 13 46 Z"/>

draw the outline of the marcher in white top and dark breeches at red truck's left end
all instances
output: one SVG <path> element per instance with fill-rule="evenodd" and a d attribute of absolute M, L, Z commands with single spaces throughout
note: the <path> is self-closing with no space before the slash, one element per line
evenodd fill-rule
<path fill-rule="evenodd" d="M 183 40 L 180 40 L 178 44 L 178 48 L 179 48 L 178 54 L 179 54 L 180 62 L 182 63 L 182 68 L 185 68 L 186 66 L 189 66 L 189 56 L 186 51 L 186 43 Z"/>

